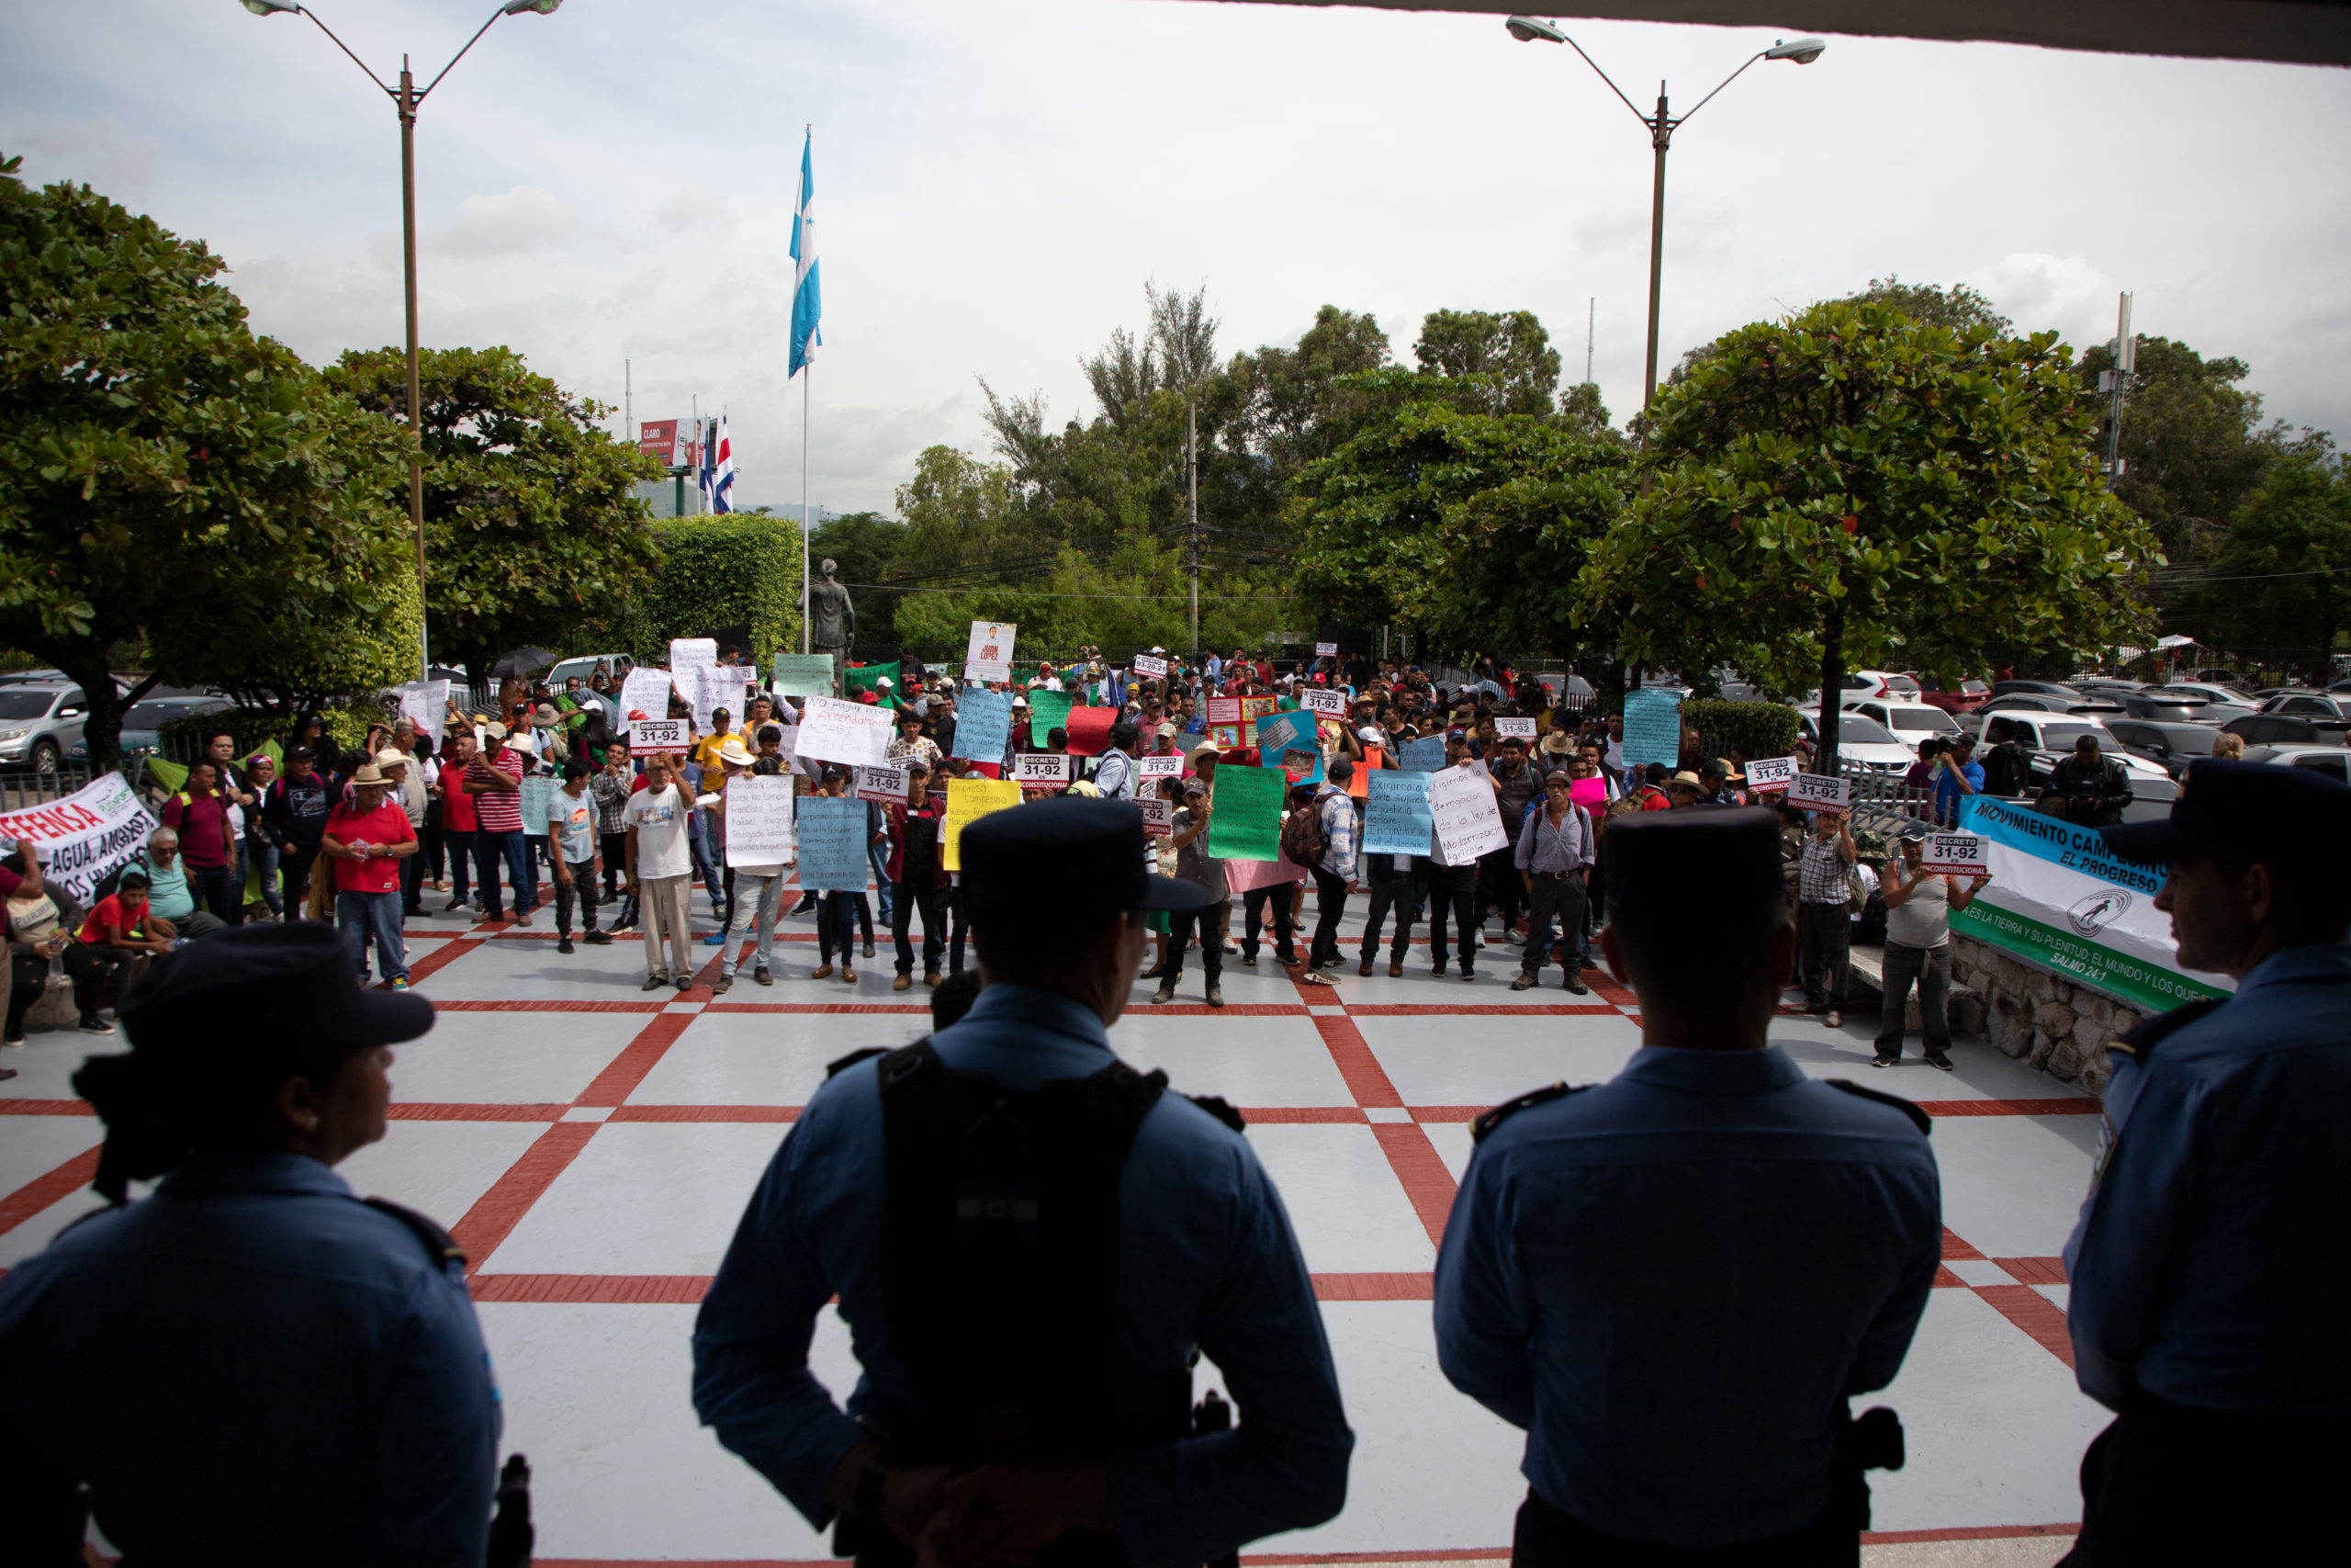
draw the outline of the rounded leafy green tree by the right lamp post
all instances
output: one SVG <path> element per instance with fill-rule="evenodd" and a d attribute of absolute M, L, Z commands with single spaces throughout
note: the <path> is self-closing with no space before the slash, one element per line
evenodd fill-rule
<path fill-rule="evenodd" d="M 2099 482 L 2055 334 L 1883 303 L 1740 327 L 1655 404 L 1655 484 L 1592 550 L 1585 616 L 1617 646 L 1770 691 L 1853 663 L 1954 682 L 1987 642 L 2097 656 L 2144 635 L 2154 534 Z M 1824 764 L 1836 724 L 1822 724 Z"/>

